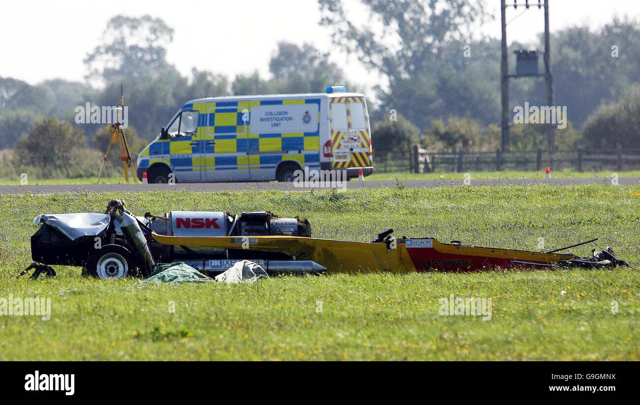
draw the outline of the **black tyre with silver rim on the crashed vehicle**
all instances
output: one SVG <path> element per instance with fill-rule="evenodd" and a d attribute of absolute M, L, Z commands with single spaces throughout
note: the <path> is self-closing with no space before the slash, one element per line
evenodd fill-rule
<path fill-rule="evenodd" d="M 136 264 L 127 248 L 104 245 L 89 256 L 86 270 L 89 275 L 99 279 L 122 279 L 136 274 Z"/>

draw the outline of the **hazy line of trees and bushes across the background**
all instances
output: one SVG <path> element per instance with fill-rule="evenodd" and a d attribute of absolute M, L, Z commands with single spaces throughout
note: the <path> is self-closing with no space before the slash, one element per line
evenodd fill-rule
<path fill-rule="evenodd" d="M 430 151 L 499 148 L 500 42 L 472 34 L 491 17 L 484 10 L 486 2 L 360 3 L 367 13 L 365 26 L 352 19 L 353 13 L 348 13 L 340 0 L 319 0 L 320 24 L 328 27 L 336 47 L 355 55 L 383 78 L 367 90 L 374 154 L 405 151 L 415 143 Z M 78 153 L 80 149 L 106 149 L 110 136 L 106 128 L 78 125 L 74 109 L 87 101 L 117 105 L 120 84 L 129 107 L 134 152 L 156 137 L 187 100 L 316 93 L 329 84 L 347 84 L 351 91 L 364 91 L 357 82 L 347 83 L 344 72 L 330 62 L 328 54 L 306 43 L 278 43 L 268 61 L 269 77 L 253 72 L 230 80 L 195 68 L 185 76 L 166 60 L 173 33 L 161 19 L 118 15 L 109 20 L 104 43 L 88 52 L 84 61 L 88 73 L 83 82 L 56 79 L 31 86 L 18 79 L 0 78 L 0 150 L 13 149 L 0 154 L 4 170 L 9 166 L 20 170 L 20 164 L 29 160 L 24 154 L 37 142 L 28 137 L 44 134 L 42 125 L 51 126 L 51 131 L 64 126 L 75 140 L 75 149 L 71 149 L 76 150 L 78 159 L 90 155 Z M 541 43 L 542 38 L 533 43 L 512 43 L 509 54 L 515 58 L 511 51 L 541 49 Z M 598 29 L 568 27 L 552 33 L 551 49 L 555 102 L 566 106 L 569 119 L 568 126 L 557 132 L 557 148 L 640 148 L 640 24 L 616 18 Z M 515 65 L 514 60 L 510 65 Z M 524 102 L 545 104 L 543 79 L 513 80 L 510 87 L 512 108 Z M 545 142 L 541 125 L 514 124 L 511 132 L 512 150 L 531 150 Z M 47 142 L 56 139 L 66 138 Z M 67 157 L 63 161 L 73 165 L 76 160 Z M 99 163 L 100 158 L 92 167 Z M 113 167 L 118 163 L 116 158 Z"/>

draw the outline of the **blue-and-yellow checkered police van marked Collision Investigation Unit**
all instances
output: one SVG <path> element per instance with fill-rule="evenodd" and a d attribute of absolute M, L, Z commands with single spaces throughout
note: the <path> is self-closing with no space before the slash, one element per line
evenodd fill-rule
<path fill-rule="evenodd" d="M 149 183 L 293 181 L 296 171 L 373 171 L 364 95 L 225 96 L 186 103 L 138 156 Z"/>

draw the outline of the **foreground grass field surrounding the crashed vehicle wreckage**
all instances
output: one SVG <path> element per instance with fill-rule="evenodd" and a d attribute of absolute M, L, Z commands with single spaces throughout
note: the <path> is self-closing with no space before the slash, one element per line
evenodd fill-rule
<path fill-rule="evenodd" d="M 246 285 L 15 279 L 40 213 L 271 210 L 314 236 L 435 236 L 545 249 L 600 236 L 640 266 L 640 187 L 442 187 L 347 192 L 0 195 L 0 297 L 51 298 L 51 320 L 0 317 L 0 360 L 638 360 L 637 270 L 281 277 Z M 577 248 L 589 254 L 590 248 Z M 563 293 L 564 291 L 564 293 Z M 492 298 L 492 319 L 439 314 L 440 298 Z M 170 311 L 172 302 L 175 312 Z M 617 311 L 612 311 L 617 304 Z M 321 311 L 321 312 L 319 312 Z M 613 312 L 616 312 L 615 314 Z"/>

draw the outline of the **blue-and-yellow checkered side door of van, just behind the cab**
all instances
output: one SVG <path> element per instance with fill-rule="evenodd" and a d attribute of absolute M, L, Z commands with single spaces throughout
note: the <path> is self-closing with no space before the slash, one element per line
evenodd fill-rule
<path fill-rule="evenodd" d="M 206 181 L 249 180 L 248 102 L 207 103 L 203 172 Z"/>

